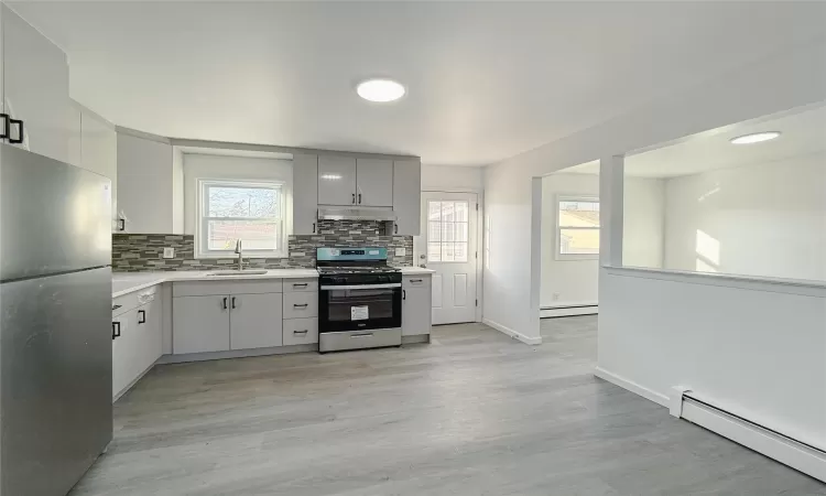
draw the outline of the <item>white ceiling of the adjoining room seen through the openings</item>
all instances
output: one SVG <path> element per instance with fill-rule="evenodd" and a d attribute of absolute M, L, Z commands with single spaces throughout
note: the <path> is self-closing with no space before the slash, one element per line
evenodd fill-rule
<path fill-rule="evenodd" d="M 782 134 L 761 143 L 730 142 L 731 138 L 761 131 L 780 131 Z M 626 157 L 626 174 L 675 177 L 815 153 L 826 153 L 826 105 L 713 129 L 655 150 L 629 154 Z M 599 162 L 588 162 L 562 172 L 598 174 Z"/>

